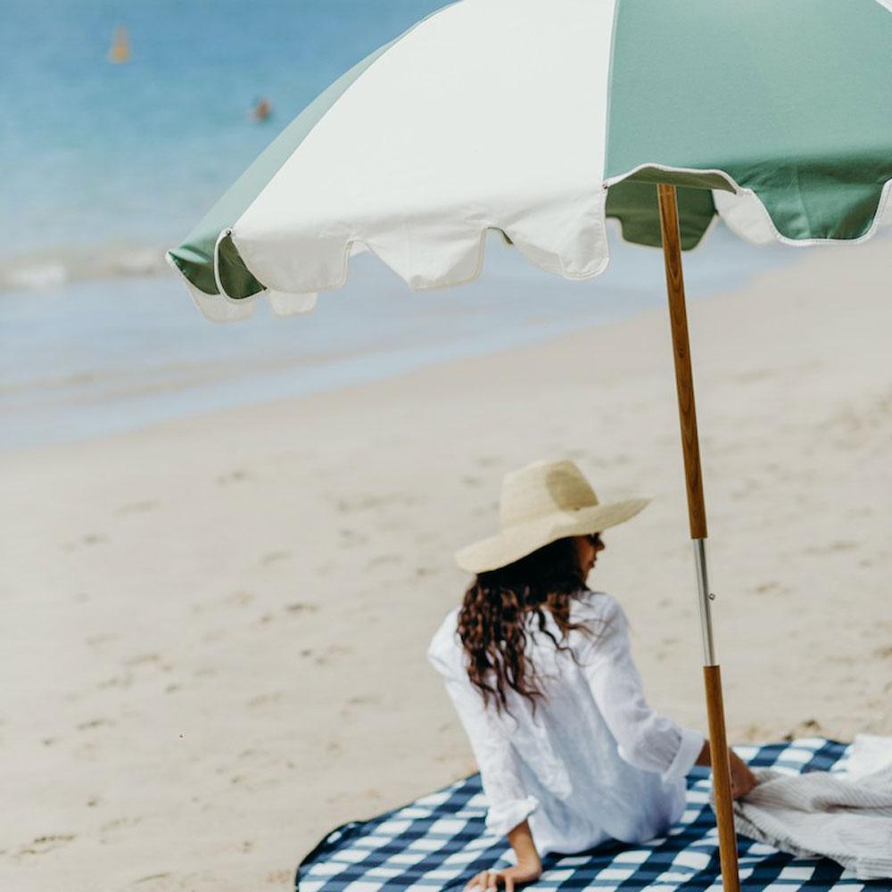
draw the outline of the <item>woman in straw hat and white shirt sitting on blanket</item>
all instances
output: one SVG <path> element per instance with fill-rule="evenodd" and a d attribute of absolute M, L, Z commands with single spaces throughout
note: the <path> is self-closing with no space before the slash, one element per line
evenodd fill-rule
<path fill-rule="evenodd" d="M 646 504 L 599 505 L 573 462 L 536 462 L 506 476 L 500 533 L 456 556 L 476 578 L 428 657 L 474 750 L 487 829 L 516 860 L 467 889 L 511 892 L 549 852 L 665 835 L 684 811 L 685 775 L 709 764 L 700 731 L 645 702 L 623 608 L 585 582 L 600 531 Z M 734 797 L 756 784 L 733 752 L 731 783 Z"/>

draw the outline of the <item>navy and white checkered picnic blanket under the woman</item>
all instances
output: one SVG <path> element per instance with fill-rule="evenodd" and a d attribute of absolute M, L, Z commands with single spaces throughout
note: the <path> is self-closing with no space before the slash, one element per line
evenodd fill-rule
<path fill-rule="evenodd" d="M 803 738 L 764 747 L 734 747 L 749 764 L 791 774 L 841 771 L 848 745 Z M 667 836 L 646 845 L 612 843 L 576 855 L 548 855 L 530 890 L 715 890 L 722 888 L 715 819 L 709 805 L 710 773 L 695 766 L 688 776 L 687 808 Z M 480 775 L 382 814 L 333 830 L 297 871 L 300 892 L 432 892 L 461 890 L 483 870 L 508 866 L 508 842 L 483 826 L 486 801 Z M 826 858 L 783 855 L 738 837 L 744 892 L 797 892 L 841 888 L 892 890 L 892 882 L 855 879 Z"/>

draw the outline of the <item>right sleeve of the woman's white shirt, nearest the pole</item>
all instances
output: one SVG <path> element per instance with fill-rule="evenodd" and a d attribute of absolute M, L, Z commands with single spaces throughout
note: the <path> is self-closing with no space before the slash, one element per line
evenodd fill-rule
<path fill-rule="evenodd" d="M 632 662 L 628 621 L 623 608 L 610 601 L 599 623 L 592 624 L 594 634 L 582 659 L 591 693 L 624 762 L 658 773 L 666 782 L 680 780 L 697 761 L 703 734 L 648 706 Z"/>

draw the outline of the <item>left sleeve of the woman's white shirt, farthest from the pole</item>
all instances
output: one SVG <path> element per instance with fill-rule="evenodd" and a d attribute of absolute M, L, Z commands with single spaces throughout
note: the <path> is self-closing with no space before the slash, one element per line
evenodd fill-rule
<path fill-rule="evenodd" d="M 427 657 L 434 668 L 442 673 L 446 691 L 474 751 L 483 781 L 483 793 L 489 804 L 486 829 L 506 836 L 533 814 L 539 805 L 536 797 L 526 794 L 508 728 L 487 711 L 483 697 L 467 678 L 467 673 L 459 672 L 450 660 L 436 653 L 433 645 Z"/>

